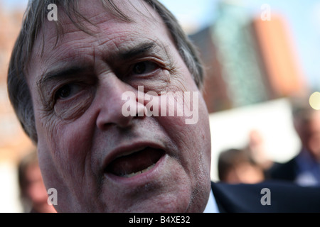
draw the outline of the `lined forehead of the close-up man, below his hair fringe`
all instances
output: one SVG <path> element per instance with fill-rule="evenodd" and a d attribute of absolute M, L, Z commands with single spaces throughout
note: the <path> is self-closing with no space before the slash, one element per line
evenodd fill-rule
<path fill-rule="evenodd" d="M 46 21 L 34 45 L 29 66 L 35 62 L 47 63 L 48 66 L 49 62 L 54 65 L 59 60 L 65 61 L 70 57 L 85 57 L 89 49 L 95 52 L 92 54 L 96 54 L 97 50 L 106 45 L 109 50 L 114 51 L 121 45 L 134 45 L 139 39 L 172 41 L 161 17 L 144 1 L 115 3 L 131 19 L 130 22 L 107 11 L 99 0 L 79 1 L 79 12 L 85 19 L 73 18 L 71 21 L 63 9 L 58 7 L 58 23 L 63 28 L 63 33 L 58 33 L 53 21 Z M 78 28 L 74 21 L 81 23 L 90 34 Z"/>

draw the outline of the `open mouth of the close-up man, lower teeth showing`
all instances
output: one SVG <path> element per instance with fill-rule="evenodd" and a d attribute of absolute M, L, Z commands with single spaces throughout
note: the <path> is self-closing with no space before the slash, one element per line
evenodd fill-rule
<path fill-rule="evenodd" d="M 164 155 L 164 150 L 146 147 L 112 160 L 105 172 L 118 177 L 134 177 L 151 170 Z"/>

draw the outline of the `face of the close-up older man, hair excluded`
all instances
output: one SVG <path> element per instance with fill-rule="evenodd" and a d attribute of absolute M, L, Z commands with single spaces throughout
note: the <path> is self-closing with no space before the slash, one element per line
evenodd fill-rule
<path fill-rule="evenodd" d="M 122 114 L 124 92 L 137 95 L 137 113 L 146 109 L 139 86 L 156 92 L 154 99 L 198 89 L 156 12 L 142 1 L 131 1 L 136 9 L 121 2 L 133 22 L 100 1 L 80 1 L 95 35 L 58 9 L 63 38 L 55 46 L 47 21 L 42 57 L 36 41 L 27 79 L 46 187 L 57 189 L 55 209 L 63 212 L 203 211 L 210 192 L 206 106 L 199 95 L 195 124 L 187 116 Z"/>

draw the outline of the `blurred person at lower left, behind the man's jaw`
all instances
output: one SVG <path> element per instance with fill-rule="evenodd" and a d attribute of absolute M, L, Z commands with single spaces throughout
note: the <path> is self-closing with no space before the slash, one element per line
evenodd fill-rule
<path fill-rule="evenodd" d="M 18 165 L 18 184 L 21 204 L 25 213 L 54 213 L 48 204 L 48 194 L 43 184 L 36 151 L 28 153 Z"/>

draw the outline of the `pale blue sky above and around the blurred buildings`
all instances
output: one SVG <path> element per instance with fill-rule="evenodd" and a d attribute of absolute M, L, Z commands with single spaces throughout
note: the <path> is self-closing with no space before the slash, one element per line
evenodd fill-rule
<path fill-rule="evenodd" d="M 181 21 L 192 21 L 200 28 L 212 23 L 219 0 L 160 0 Z M 232 1 L 232 0 L 229 0 Z M 248 13 L 260 13 L 262 4 L 269 4 L 271 13 L 287 18 L 289 31 L 302 71 L 309 84 L 320 90 L 320 1 L 319 0 L 233 0 L 243 4 Z M 6 8 L 26 6 L 26 0 L 0 0 Z"/>

